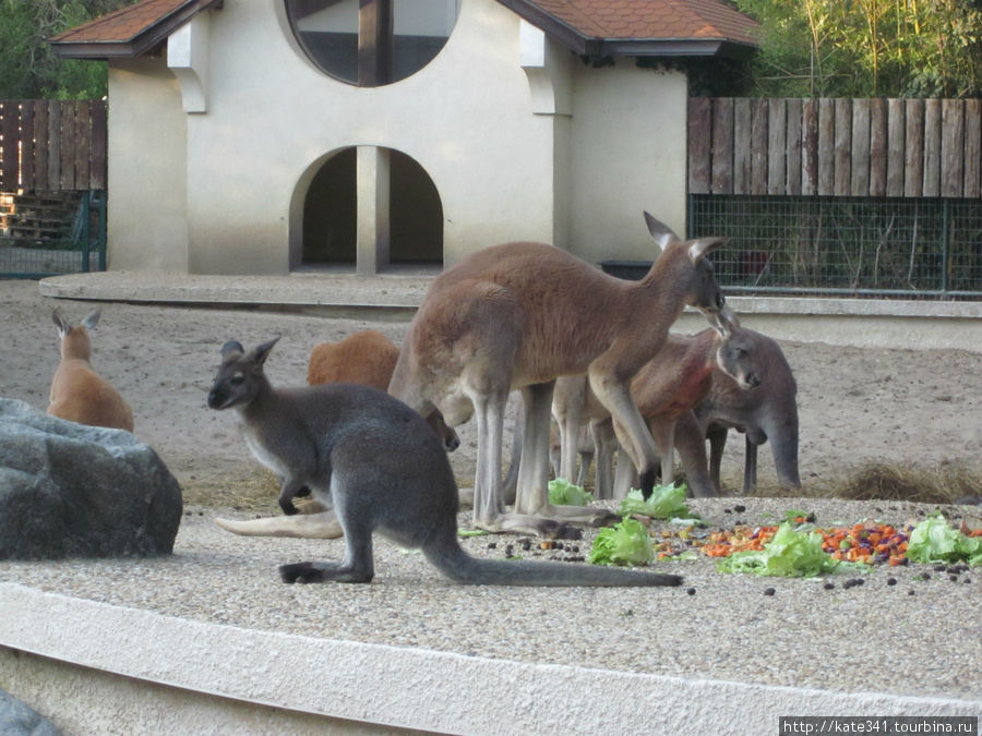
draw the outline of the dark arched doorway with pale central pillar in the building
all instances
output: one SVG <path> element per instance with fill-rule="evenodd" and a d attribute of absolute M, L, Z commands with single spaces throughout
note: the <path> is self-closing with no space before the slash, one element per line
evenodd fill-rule
<path fill-rule="evenodd" d="M 303 268 L 373 274 L 443 265 L 443 205 L 410 156 L 344 148 L 313 173 L 301 218 Z"/>

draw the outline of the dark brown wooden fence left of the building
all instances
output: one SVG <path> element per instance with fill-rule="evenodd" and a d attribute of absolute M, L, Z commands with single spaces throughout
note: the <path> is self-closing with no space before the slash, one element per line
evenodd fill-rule
<path fill-rule="evenodd" d="M 0 192 L 105 189 L 105 100 L 0 100 Z"/>

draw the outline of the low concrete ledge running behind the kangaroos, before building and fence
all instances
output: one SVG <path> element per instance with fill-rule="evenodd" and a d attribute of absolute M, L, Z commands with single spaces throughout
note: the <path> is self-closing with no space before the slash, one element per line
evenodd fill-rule
<path fill-rule="evenodd" d="M 46 278 L 39 289 L 63 299 L 410 319 L 435 275 L 420 269 L 368 277 L 325 272 L 289 276 L 100 272 Z M 982 301 L 730 297 L 729 302 L 744 326 L 778 340 L 982 352 Z M 675 329 L 694 333 L 705 325 L 698 312 L 686 310 Z"/>

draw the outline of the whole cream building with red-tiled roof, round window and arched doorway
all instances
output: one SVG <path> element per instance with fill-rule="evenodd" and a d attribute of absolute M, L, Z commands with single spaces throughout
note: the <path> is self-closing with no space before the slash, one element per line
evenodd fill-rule
<path fill-rule="evenodd" d="M 755 29 L 720 0 L 145 0 L 51 43 L 109 60 L 110 269 L 372 274 L 650 260 L 643 210 L 685 227 L 675 62 Z"/>

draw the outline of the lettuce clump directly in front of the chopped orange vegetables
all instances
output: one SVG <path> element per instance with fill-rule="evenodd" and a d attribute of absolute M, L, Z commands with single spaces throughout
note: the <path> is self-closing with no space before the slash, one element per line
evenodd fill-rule
<path fill-rule="evenodd" d="M 794 531 L 786 521 L 763 550 L 735 552 L 716 566 L 723 572 L 812 578 L 831 572 L 838 565 L 822 550 L 821 534 Z"/>

